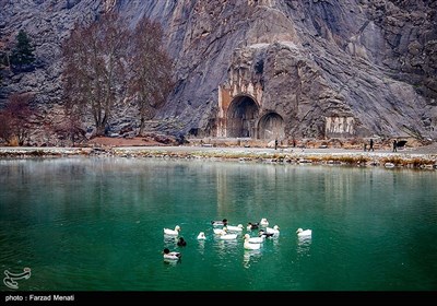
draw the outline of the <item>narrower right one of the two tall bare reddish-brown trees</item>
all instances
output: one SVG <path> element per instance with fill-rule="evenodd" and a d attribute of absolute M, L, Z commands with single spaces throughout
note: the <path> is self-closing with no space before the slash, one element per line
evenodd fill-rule
<path fill-rule="evenodd" d="M 174 87 L 172 60 L 163 48 L 163 30 L 158 22 L 143 17 L 133 31 L 130 57 L 130 91 L 140 113 L 140 131 L 155 115 Z"/>

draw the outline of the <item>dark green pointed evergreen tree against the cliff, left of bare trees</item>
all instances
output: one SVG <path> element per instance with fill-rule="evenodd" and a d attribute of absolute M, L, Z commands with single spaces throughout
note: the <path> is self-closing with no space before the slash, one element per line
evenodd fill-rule
<path fill-rule="evenodd" d="M 12 49 L 11 64 L 22 70 L 23 68 L 32 67 L 35 61 L 35 48 L 32 46 L 32 40 L 26 32 L 20 30 L 16 35 L 16 44 Z"/>

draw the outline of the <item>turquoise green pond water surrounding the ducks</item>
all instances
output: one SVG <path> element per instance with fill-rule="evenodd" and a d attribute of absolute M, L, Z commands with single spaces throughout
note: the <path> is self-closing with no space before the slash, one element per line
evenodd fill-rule
<path fill-rule="evenodd" d="M 0 272 L 31 268 L 22 291 L 437 290 L 435 170 L 76 157 L 0 174 Z M 214 236 L 224 217 L 280 236 L 248 251 Z"/>

